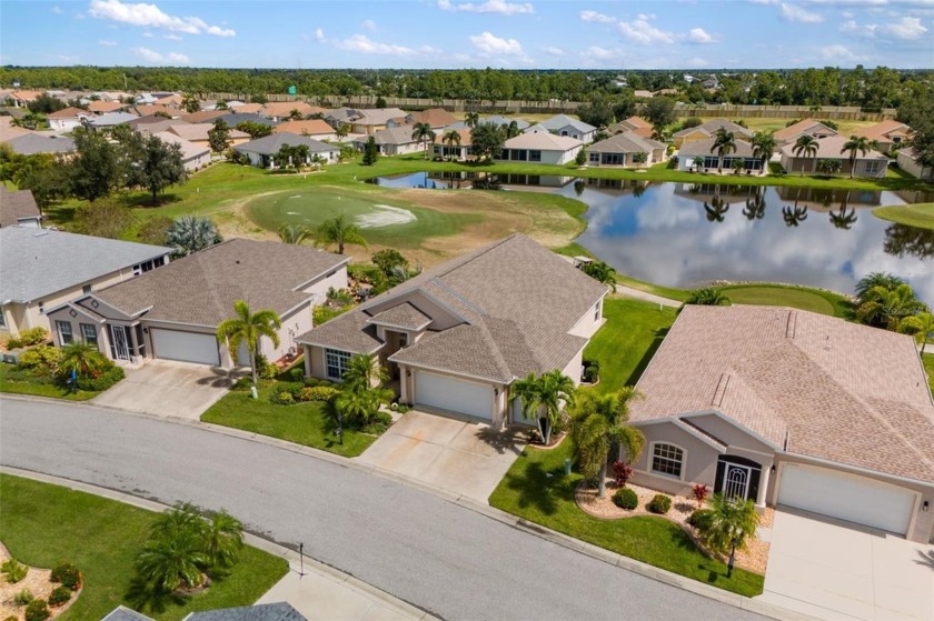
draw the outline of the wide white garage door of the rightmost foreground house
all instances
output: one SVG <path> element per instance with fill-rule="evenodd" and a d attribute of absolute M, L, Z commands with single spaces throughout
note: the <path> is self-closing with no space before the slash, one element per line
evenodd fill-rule
<path fill-rule="evenodd" d="M 905 534 L 915 494 L 881 481 L 826 468 L 782 467 L 778 504 Z"/>

